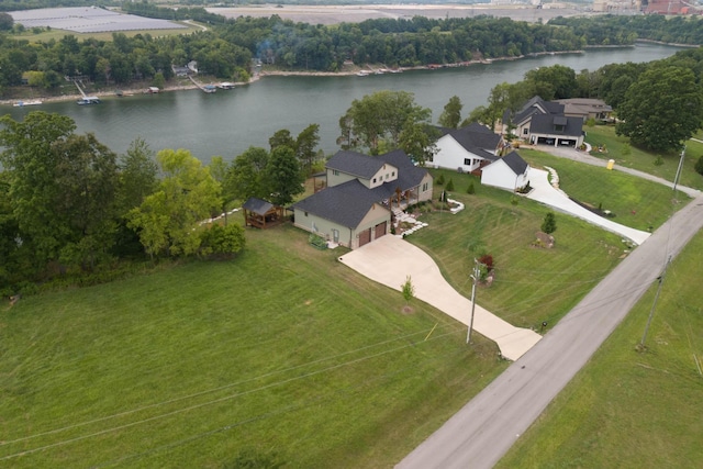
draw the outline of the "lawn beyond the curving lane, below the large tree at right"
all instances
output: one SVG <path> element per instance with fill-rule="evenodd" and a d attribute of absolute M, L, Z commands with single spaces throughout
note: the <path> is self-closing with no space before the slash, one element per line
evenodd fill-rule
<path fill-rule="evenodd" d="M 591 155 L 602 159 L 614 159 L 620 166 L 627 168 L 638 169 L 650 175 L 659 176 L 669 181 L 673 181 L 677 169 L 679 167 L 679 154 L 654 154 L 645 152 L 635 146 L 629 147 L 629 154 L 625 150 L 623 154 L 623 147 L 629 142 L 629 138 L 625 136 L 615 135 L 615 127 L 611 125 L 596 125 L 593 127 L 584 127 L 587 132 L 585 142 L 592 146 L 605 145 L 606 153 L 591 152 Z M 699 132 L 698 138 L 701 138 Z M 703 155 L 703 144 L 700 142 L 689 141 L 687 142 L 685 158 L 683 161 L 683 168 L 681 170 L 680 183 L 683 186 L 692 187 L 703 190 L 703 176 L 695 172 L 693 168 L 695 161 Z M 655 165 L 657 157 L 661 156 L 661 165 Z"/>

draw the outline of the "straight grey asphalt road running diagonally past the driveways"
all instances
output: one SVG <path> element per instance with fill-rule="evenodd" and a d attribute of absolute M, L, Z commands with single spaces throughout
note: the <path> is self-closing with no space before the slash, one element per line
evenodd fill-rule
<path fill-rule="evenodd" d="M 495 465 L 657 280 L 669 255 L 676 257 L 701 227 L 699 194 L 397 468 Z"/>

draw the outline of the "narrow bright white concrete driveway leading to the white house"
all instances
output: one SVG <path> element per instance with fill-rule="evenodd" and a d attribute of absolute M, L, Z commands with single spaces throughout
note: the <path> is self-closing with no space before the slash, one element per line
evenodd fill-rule
<path fill-rule="evenodd" d="M 638 245 L 643 244 L 649 237 L 650 234 L 647 232 L 631 228 L 629 226 L 612 222 L 579 205 L 578 203 L 569 199 L 569 196 L 567 196 L 563 191 L 555 189 L 549 183 L 548 175 L 549 174 L 544 169 L 529 168 L 529 185 L 534 189 L 527 194 L 527 199 L 542 202 L 545 205 L 549 205 L 560 212 L 565 212 L 579 219 L 585 220 L 587 222 L 607 230 L 609 232 L 624 236 Z"/>

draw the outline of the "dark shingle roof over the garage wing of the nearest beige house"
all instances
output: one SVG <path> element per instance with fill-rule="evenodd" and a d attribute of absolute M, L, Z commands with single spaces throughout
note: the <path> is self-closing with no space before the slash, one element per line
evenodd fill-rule
<path fill-rule="evenodd" d="M 369 190 L 358 179 L 354 179 L 321 190 L 294 203 L 291 209 L 295 212 L 310 212 L 338 225 L 356 228 L 371 206 L 381 200 L 376 190 Z"/>

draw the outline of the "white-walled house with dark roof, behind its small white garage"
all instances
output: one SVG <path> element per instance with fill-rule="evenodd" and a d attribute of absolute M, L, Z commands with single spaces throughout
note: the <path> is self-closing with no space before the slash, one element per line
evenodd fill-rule
<path fill-rule="evenodd" d="M 440 129 L 435 143 L 437 152 L 432 161 L 435 168 L 473 172 L 499 158 L 503 137 L 486 125 L 469 124 L 461 129 Z"/>

